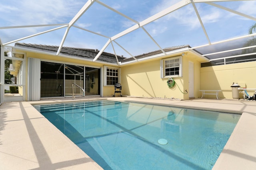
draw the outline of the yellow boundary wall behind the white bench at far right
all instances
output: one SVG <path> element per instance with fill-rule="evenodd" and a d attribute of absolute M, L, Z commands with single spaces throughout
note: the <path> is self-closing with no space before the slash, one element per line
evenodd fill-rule
<path fill-rule="evenodd" d="M 200 69 L 200 86 L 202 90 L 222 90 L 220 98 L 232 99 L 232 83 L 238 83 L 241 88 L 256 88 L 254 74 L 256 61 L 227 64 L 220 66 L 202 67 Z M 250 96 L 254 90 L 248 90 Z M 214 96 L 206 96 L 213 98 Z M 241 96 L 242 97 L 242 96 Z"/>

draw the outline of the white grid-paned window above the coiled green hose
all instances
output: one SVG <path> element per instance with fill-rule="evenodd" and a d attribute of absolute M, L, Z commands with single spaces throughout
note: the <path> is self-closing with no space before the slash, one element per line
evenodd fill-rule
<path fill-rule="evenodd" d="M 181 63 L 182 63 L 181 57 L 161 60 L 161 67 L 162 67 L 161 78 L 181 77 L 182 76 Z"/>

